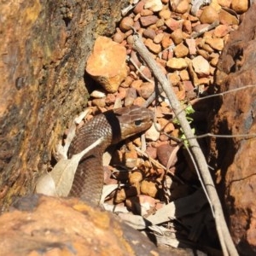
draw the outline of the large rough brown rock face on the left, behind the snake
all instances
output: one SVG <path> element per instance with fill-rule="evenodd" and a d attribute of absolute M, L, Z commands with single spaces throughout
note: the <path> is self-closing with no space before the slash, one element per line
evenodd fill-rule
<path fill-rule="evenodd" d="M 69 120 L 86 106 L 84 66 L 127 1 L 2 1 L 0 207 L 32 192 Z M 87 85 L 87 84 L 86 84 Z"/>

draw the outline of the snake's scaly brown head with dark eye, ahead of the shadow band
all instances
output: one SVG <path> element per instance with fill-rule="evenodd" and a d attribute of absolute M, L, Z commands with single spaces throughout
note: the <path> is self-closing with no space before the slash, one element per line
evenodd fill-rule
<path fill-rule="evenodd" d="M 119 119 L 121 140 L 148 130 L 154 122 L 154 113 L 148 108 L 131 106 L 113 111 Z"/>

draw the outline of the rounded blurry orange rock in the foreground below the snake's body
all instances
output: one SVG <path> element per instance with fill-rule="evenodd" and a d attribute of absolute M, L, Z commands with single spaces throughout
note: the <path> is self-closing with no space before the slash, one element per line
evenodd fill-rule
<path fill-rule="evenodd" d="M 160 251 L 113 214 L 78 199 L 24 197 L 3 213 L 0 225 L 1 255 L 191 255 Z"/>

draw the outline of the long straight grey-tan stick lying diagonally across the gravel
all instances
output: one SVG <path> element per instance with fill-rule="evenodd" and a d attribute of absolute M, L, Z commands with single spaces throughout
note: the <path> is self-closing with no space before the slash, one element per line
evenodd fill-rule
<path fill-rule="evenodd" d="M 224 255 L 238 255 L 236 247 L 231 239 L 230 231 L 228 230 L 224 219 L 224 212 L 218 199 L 217 191 L 212 181 L 211 174 L 208 170 L 207 160 L 205 159 L 198 142 L 194 138 L 193 131 L 191 130 L 189 122 L 186 119 L 186 114 L 180 106 L 180 103 L 178 102 L 177 97 L 172 90 L 172 86 L 170 86 L 169 80 L 166 79 L 166 76 L 162 73 L 160 67 L 149 54 L 148 49 L 143 44 L 140 36 L 137 34 L 134 35 L 134 48 L 137 50 L 139 55 L 141 55 L 143 60 L 148 64 L 148 67 L 151 69 L 152 73 L 154 73 L 155 78 L 160 82 L 163 90 L 166 93 L 166 96 L 168 97 L 173 112 L 176 114 L 177 119 L 183 128 L 184 135 L 189 141 L 191 152 L 195 157 L 194 160 L 199 168 L 199 171 L 201 172 L 201 178 L 206 186 L 207 195 L 212 201 L 212 207 L 215 212 L 215 223 L 218 231 L 218 238 L 220 239 Z"/>

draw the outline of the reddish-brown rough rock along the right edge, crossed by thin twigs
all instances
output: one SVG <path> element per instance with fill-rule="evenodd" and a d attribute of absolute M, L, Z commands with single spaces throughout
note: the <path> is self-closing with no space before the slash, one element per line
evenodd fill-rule
<path fill-rule="evenodd" d="M 230 33 L 218 62 L 216 84 L 220 92 L 256 84 L 255 12 L 256 4 L 253 4 L 239 29 Z M 255 87 L 222 96 L 215 102 L 215 108 L 212 133 L 255 134 Z M 230 232 L 240 255 L 256 253 L 255 152 L 255 137 L 211 139 L 210 165 L 216 168 L 220 196 L 223 196 Z"/>

